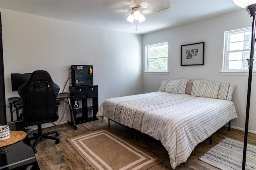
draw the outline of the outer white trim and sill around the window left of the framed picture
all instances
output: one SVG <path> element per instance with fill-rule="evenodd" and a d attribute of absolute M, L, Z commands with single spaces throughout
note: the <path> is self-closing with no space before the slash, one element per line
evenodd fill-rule
<path fill-rule="evenodd" d="M 164 42 L 164 43 L 157 43 L 157 44 L 152 44 L 152 45 L 146 45 L 145 46 L 145 71 L 144 73 L 145 74 L 169 74 L 169 71 L 168 70 L 148 70 L 148 47 L 152 47 L 152 46 L 156 46 L 156 45 L 164 45 L 164 44 L 167 44 L 168 45 L 168 50 L 169 50 L 169 44 L 168 42 Z M 169 61 L 169 51 L 168 51 L 168 57 L 167 57 L 167 60 Z M 167 69 L 168 69 L 168 66 L 167 66 Z"/>

